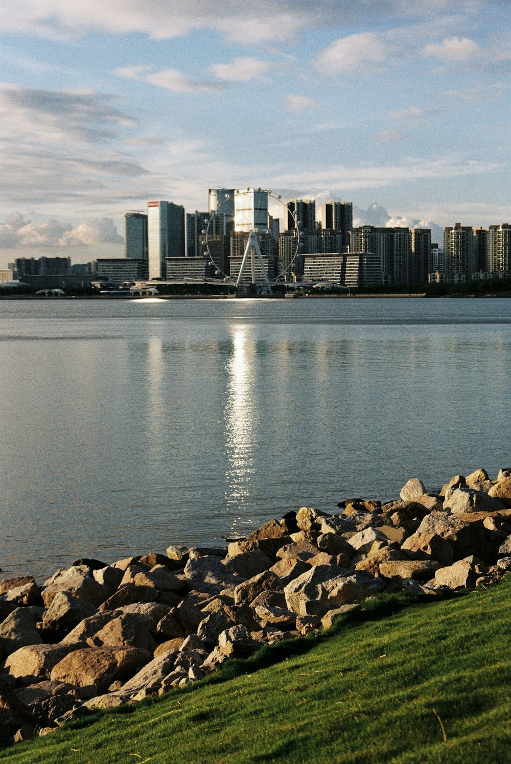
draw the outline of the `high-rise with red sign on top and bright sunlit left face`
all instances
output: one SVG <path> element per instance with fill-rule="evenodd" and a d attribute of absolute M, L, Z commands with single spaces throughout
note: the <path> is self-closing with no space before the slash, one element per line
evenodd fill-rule
<path fill-rule="evenodd" d="M 147 202 L 149 278 L 165 278 L 165 258 L 185 256 L 185 209 L 173 202 Z"/>

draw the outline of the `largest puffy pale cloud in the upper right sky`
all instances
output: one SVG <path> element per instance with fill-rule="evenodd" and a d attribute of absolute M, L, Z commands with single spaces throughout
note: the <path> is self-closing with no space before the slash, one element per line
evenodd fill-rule
<path fill-rule="evenodd" d="M 367 74 L 381 71 L 398 50 L 389 33 L 358 32 L 335 40 L 315 59 L 315 68 L 324 74 Z"/>

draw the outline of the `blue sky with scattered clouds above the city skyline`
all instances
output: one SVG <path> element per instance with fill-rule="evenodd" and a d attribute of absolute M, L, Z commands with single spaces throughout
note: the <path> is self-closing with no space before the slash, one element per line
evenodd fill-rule
<path fill-rule="evenodd" d="M 209 187 L 511 222 L 508 0 L 2 0 L 0 267 Z M 273 214 L 280 214 L 273 202 Z"/>

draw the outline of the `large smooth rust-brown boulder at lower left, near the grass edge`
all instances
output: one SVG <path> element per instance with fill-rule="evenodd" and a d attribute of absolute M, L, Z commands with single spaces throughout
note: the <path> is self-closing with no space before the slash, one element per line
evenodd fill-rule
<path fill-rule="evenodd" d="M 79 687 L 94 685 L 97 694 L 103 694 L 112 681 L 128 679 L 148 659 L 147 652 L 136 647 L 85 647 L 57 663 L 50 678 Z"/>

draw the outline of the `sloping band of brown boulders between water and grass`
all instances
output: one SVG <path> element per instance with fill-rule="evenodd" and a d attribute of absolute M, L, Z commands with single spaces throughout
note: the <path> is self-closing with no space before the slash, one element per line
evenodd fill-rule
<path fill-rule="evenodd" d="M 398 500 L 338 507 L 302 507 L 227 548 L 79 559 L 42 586 L 2 581 L 0 745 L 328 629 L 380 592 L 435 597 L 511 570 L 511 468 L 456 475 L 438 492 L 412 478 Z"/>

